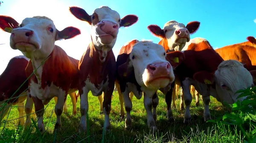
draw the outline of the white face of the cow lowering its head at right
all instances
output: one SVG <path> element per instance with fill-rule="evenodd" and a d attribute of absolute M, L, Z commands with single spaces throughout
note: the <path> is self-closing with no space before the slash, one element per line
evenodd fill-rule
<path fill-rule="evenodd" d="M 240 62 L 226 60 L 221 62 L 218 70 L 215 71 L 215 82 L 217 96 L 221 102 L 233 104 L 240 94 L 236 91 L 252 86 L 253 77 Z M 244 98 L 238 98 L 238 100 L 242 101 Z"/>

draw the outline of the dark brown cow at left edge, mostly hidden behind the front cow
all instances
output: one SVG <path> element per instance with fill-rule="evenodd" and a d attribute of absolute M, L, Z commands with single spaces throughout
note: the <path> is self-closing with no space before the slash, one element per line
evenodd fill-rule
<path fill-rule="evenodd" d="M 18 90 L 21 84 L 27 79 L 26 76 L 26 66 L 29 63 L 29 59 L 26 56 L 15 56 L 10 59 L 7 64 L 6 69 L 0 75 L 0 107 L 3 107 L 3 104 L 6 103 L 4 108 L 0 109 L 0 121 L 5 117 L 6 113 L 9 111 L 12 105 L 17 104 L 17 109 L 19 112 L 19 124 L 23 126 L 24 124 L 24 101 L 25 112 L 26 112 L 26 123 L 25 126 L 30 125 L 31 123 L 31 112 L 33 108 L 33 100 L 29 96 L 28 88 L 29 84 L 26 81 L 23 86 Z M 19 69 L 19 70 L 17 70 Z M 15 91 L 17 93 L 15 93 Z M 15 95 L 13 95 L 15 93 Z M 70 93 L 71 101 L 73 104 L 73 115 L 76 115 L 76 99 L 77 95 L 75 92 Z M 57 98 L 54 97 L 55 104 L 57 103 Z M 8 101 L 9 100 L 9 101 Z M 8 101 L 8 102 L 7 102 Z M 67 112 L 67 103 L 64 104 L 64 112 Z"/>

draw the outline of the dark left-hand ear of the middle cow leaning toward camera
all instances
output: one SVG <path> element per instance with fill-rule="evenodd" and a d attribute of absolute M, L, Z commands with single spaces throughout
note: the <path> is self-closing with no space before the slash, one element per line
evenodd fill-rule
<path fill-rule="evenodd" d="M 130 57 L 128 56 L 127 61 L 118 67 L 117 73 L 120 77 L 129 77 L 133 72 L 133 67 L 130 61 Z"/>

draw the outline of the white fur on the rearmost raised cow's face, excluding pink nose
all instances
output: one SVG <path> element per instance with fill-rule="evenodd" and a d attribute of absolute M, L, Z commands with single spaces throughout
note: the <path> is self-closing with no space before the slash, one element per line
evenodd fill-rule
<path fill-rule="evenodd" d="M 167 31 L 166 39 L 168 41 L 168 47 L 170 48 L 170 50 L 174 49 L 181 51 L 186 42 L 189 42 L 190 35 L 188 33 L 186 34 L 186 36 L 183 34 L 181 36 L 178 36 L 177 34 L 175 34 L 176 30 L 186 31 L 187 28 L 183 23 L 179 23 L 175 20 L 168 21 L 163 26 L 163 31 Z"/>

